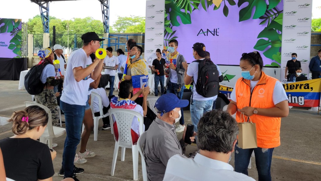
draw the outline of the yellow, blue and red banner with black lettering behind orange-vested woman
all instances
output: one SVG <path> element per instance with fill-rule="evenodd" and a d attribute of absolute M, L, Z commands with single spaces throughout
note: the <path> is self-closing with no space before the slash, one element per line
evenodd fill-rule
<path fill-rule="evenodd" d="M 321 97 L 321 78 L 283 84 L 289 106 L 318 107 Z M 230 99 L 233 87 L 220 85 L 220 92 Z"/>

